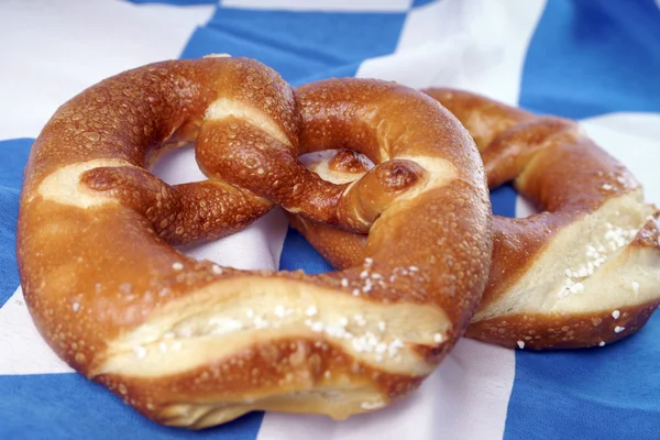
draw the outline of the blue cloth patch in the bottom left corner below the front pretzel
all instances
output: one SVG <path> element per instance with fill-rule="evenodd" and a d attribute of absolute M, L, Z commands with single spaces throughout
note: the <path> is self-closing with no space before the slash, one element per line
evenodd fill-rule
<path fill-rule="evenodd" d="M 9 439 L 220 439 L 252 440 L 261 415 L 190 432 L 140 416 L 79 374 L 0 375 L 0 438 Z M 85 422 L 80 405 L 85 407 Z"/>

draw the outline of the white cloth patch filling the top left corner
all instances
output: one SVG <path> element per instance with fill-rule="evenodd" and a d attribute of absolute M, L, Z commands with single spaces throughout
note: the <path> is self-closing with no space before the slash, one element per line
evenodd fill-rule
<path fill-rule="evenodd" d="M 178 57 L 195 28 L 212 12 L 212 6 L 114 0 L 4 4 L 0 139 L 36 138 L 57 107 L 86 87 L 129 68 Z"/>

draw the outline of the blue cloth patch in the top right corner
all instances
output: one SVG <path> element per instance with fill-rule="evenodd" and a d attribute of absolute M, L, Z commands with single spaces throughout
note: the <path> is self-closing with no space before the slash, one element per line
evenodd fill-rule
<path fill-rule="evenodd" d="M 522 76 L 522 107 L 569 118 L 660 111 L 660 10 L 653 0 L 551 0 Z"/>

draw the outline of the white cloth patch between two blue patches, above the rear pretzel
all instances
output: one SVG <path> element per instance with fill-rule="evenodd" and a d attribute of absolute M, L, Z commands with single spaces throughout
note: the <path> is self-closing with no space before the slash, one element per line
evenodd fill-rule
<path fill-rule="evenodd" d="M 465 88 L 517 105 L 522 63 L 544 0 L 443 0 L 408 13 L 394 55 L 359 77 Z"/>

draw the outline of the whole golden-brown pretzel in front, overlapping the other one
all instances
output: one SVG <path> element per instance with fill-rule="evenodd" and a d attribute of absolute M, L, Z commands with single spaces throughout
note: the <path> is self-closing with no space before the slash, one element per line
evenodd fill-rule
<path fill-rule="evenodd" d="M 147 170 L 195 140 L 208 180 Z M 296 160 L 348 144 L 378 163 L 356 183 Z M 173 248 L 273 204 L 369 231 L 363 258 L 308 276 Z M 209 57 L 119 74 L 57 110 L 25 169 L 16 251 L 62 359 L 146 417 L 198 429 L 257 409 L 341 419 L 414 391 L 481 299 L 491 228 L 474 142 L 429 97 L 358 79 L 294 96 L 257 62 Z"/>

